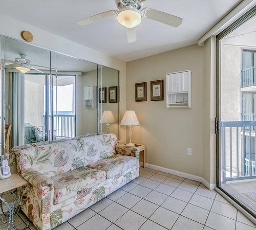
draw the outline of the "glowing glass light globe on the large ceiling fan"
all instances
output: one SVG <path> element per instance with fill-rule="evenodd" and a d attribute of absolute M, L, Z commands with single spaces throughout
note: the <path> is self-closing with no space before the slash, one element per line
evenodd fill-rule
<path fill-rule="evenodd" d="M 117 21 L 121 26 L 132 29 L 141 23 L 141 15 L 136 10 L 122 10 L 117 15 Z"/>

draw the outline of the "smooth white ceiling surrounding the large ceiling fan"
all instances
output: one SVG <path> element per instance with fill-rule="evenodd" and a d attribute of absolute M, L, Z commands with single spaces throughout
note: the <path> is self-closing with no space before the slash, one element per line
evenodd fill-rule
<path fill-rule="evenodd" d="M 144 7 L 183 18 L 178 28 L 143 18 L 137 41 L 127 43 L 125 29 L 116 17 L 88 26 L 77 20 L 116 9 L 114 0 L 0 0 L 0 13 L 50 33 L 86 45 L 123 61 L 195 44 L 241 0 L 147 0 Z"/>

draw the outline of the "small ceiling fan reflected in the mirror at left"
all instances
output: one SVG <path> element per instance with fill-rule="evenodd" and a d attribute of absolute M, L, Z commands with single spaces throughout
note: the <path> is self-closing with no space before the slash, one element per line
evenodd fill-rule
<path fill-rule="evenodd" d="M 26 57 L 27 57 L 27 55 L 20 54 L 20 57 L 15 58 L 15 61 L 5 60 L 6 63 L 12 63 L 9 65 L 6 65 L 5 67 L 8 69 L 16 68 L 17 71 L 19 71 L 20 73 L 23 73 L 23 74 L 29 72 L 32 68 L 33 70 L 36 70 L 36 71 L 44 74 L 44 72 L 39 71 L 39 70 L 37 70 L 37 68 L 33 67 L 33 66 L 39 66 L 39 65 L 32 65 L 31 61 L 29 59 L 26 59 Z M 39 67 L 42 67 L 42 66 L 39 66 Z"/>

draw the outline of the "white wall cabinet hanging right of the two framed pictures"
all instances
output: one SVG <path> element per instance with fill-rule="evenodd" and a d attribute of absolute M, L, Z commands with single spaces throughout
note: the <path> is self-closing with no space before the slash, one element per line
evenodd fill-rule
<path fill-rule="evenodd" d="M 166 74 L 166 106 L 191 108 L 191 71 Z"/>

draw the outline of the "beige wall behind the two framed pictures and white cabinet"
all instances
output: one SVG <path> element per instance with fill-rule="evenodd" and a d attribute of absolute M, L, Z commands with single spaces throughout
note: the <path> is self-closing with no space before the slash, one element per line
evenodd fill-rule
<path fill-rule="evenodd" d="M 126 64 L 126 109 L 135 110 L 140 126 L 133 127 L 132 142 L 147 148 L 146 163 L 181 171 L 215 183 L 216 142 L 212 115 L 215 114 L 215 73 L 210 54 L 215 44 L 210 38 L 205 47 L 197 44 L 134 60 Z M 205 58 L 207 58 L 205 60 Z M 216 60 L 216 59 L 215 59 Z M 167 108 L 164 101 L 150 100 L 150 81 L 164 79 L 167 73 L 190 70 L 192 108 Z M 135 102 L 135 83 L 147 82 L 147 101 Z M 127 133 L 126 133 L 127 136 Z M 187 155 L 187 148 L 192 155 Z M 212 147 L 212 148 L 211 148 Z M 213 155 L 213 156 L 212 156 Z"/>

